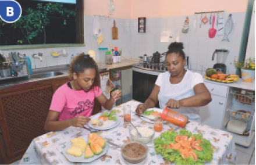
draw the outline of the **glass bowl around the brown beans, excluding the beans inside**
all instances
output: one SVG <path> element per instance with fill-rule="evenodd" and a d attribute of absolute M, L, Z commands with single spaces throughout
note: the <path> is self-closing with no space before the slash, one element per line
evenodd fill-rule
<path fill-rule="evenodd" d="M 129 163 L 140 163 L 142 162 L 143 160 L 146 159 L 147 155 L 148 155 L 148 147 L 147 145 L 143 144 L 142 142 L 138 142 L 138 141 L 130 141 L 130 142 L 126 142 L 125 144 L 122 145 L 123 148 L 125 148 L 126 145 L 129 145 L 129 144 L 133 144 L 133 143 L 137 143 L 137 144 L 141 144 L 143 145 L 146 149 L 147 149 L 147 152 L 140 156 L 140 157 L 128 157 L 126 156 L 123 152 L 125 152 L 123 149 L 122 149 L 122 156 L 123 156 L 123 159 L 125 159 L 127 162 Z"/>

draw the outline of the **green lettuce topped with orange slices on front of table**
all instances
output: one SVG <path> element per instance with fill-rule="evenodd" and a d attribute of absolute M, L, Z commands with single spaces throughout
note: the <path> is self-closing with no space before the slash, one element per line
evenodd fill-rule
<path fill-rule="evenodd" d="M 211 142 L 203 138 L 201 132 L 166 131 L 155 139 L 154 145 L 157 153 L 175 164 L 204 164 L 213 159 Z"/>

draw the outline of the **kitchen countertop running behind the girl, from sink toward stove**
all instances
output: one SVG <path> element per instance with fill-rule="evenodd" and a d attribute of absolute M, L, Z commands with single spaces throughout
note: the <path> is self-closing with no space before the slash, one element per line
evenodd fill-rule
<path fill-rule="evenodd" d="M 112 64 L 97 63 L 97 64 L 98 64 L 99 71 L 104 71 L 104 69 L 113 70 L 113 69 L 119 69 L 122 67 L 132 66 L 134 63 L 138 63 L 138 62 L 139 62 L 139 59 L 123 59 L 121 60 L 120 63 L 112 63 Z M 59 71 L 59 72 L 62 72 L 63 74 L 59 76 L 45 77 L 45 78 L 29 79 L 28 77 L 20 77 L 20 78 L 11 78 L 8 80 L 0 80 L 0 90 L 20 87 L 23 85 L 35 84 L 35 83 L 49 81 L 49 80 L 56 80 L 59 78 L 67 78 L 68 76 L 68 67 L 66 65 L 34 69 L 33 74 L 44 73 L 47 71 Z"/>

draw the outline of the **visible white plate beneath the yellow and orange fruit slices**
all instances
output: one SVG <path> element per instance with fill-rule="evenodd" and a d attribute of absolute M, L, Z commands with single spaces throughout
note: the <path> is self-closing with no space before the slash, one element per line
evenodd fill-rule
<path fill-rule="evenodd" d="M 82 136 L 80 138 L 83 138 L 86 142 L 87 142 L 87 139 L 88 139 L 88 135 L 86 136 Z M 103 137 L 102 137 L 103 138 Z M 106 139 L 105 139 L 106 140 Z M 88 144 L 87 144 L 88 145 Z M 69 155 L 66 153 L 66 150 L 69 149 L 70 147 L 72 146 L 72 143 L 69 141 L 67 142 L 67 145 L 66 145 L 66 148 L 63 150 L 63 155 L 66 156 L 67 160 L 69 160 L 69 162 L 93 162 L 95 159 L 98 159 L 99 157 L 101 157 L 102 155 L 105 155 L 106 152 L 108 151 L 108 143 L 106 142 L 106 145 L 105 147 L 103 148 L 103 151 L 99 154 L 99 155 L 94 155 L 93 157 L 90 157 L 90 158 L 87 158 L 85 159 L 84 158 L 84 153 L 82 154 L 82 156 L 80 157 L 76 157 L 76 156 L 73 156 L 73 155 Z"/>

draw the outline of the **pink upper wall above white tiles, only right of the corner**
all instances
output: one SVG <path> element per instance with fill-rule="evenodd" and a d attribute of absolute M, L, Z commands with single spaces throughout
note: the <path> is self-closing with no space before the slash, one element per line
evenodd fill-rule
<path fill-rule="evenodd" d="M 194 12 L 226 10 L 246 12 L 247 0 L 132 0 L 131 19 L 194 15 Z"/>

